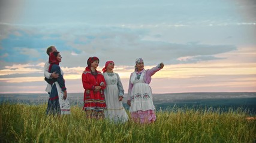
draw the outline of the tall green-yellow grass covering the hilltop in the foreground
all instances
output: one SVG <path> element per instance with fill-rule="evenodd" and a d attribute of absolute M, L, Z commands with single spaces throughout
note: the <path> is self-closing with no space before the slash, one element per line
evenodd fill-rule
<path fill-rule="evenodd" d="M 71 115 L 46 116 L 46 104 L 0 104 L 0 142 L 255 142 L 256 121 L 246 113 L 211 108 L 157 111 L 150 125 L 87 119 L 82 107 Z"/>

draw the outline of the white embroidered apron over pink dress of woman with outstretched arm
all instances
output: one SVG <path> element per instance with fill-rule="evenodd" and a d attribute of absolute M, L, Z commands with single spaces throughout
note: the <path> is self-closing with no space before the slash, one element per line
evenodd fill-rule
<path fill-rule="evenodd" d="M 145 70 L 143 73 L 141 73 L 139 79 L 137 79 L 136 72 L 134 72 L 131 76 L 130 82 L 133 84 L 133 88 L 131 90 L 131 107 L 129 108 L 130 113 L 136 111 L 155 110 L 152 100 L 152 90 L 149 84 L 144 83 L 144 76 Z"/>

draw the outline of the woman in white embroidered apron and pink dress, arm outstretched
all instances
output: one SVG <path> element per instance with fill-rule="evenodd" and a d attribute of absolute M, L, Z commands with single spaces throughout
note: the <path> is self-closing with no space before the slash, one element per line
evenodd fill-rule
<path fill-rule="evenodd" d="M 163 63 L 158 64 L 149 70 L 144 70 L 142 58 L 135 60 L 135 71 L 129 79 L 128 101 L 129 113 L 134 122 L 152 123 L 155 122 L 155 106 L 153 105 L 152 90 L 149 86 L 151 76 L 164 67 Z"/>

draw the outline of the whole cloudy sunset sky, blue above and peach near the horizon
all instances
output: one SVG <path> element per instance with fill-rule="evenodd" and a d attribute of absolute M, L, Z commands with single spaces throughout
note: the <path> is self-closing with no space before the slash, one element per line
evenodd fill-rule
<path fill-rule="evenodd" d="M 115 61 L 125 93 L 135 59 L 153 93 L 256 92 L 256 1 L 0 0 L 0 94 L 46 93 L 46 49 L 61 52 L 67 92 L 84 92 L 89 57 Z"/>

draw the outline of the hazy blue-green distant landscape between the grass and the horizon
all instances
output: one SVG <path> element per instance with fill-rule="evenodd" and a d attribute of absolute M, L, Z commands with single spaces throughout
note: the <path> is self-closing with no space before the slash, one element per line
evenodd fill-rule
<path fill-rule="evenodd" d="M 68 94 L 71 105 L 83 105 L 83 93 Z M 0 102 L 22 104 L 45 104 L 48 94 L 0 94 Z M 128 109 L 127 94 L 124 95 L 123 104 Z M 242 108 L 249 114 L 256 114 L 256 92 L 191 92 L 176 94 L 153 94 L 156 110 L 168 110 L 176 107 L 188 108 L 221 108 L 227 111 Z"/>

